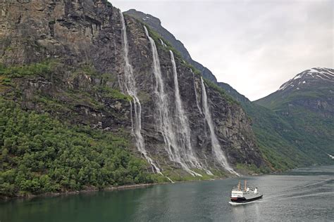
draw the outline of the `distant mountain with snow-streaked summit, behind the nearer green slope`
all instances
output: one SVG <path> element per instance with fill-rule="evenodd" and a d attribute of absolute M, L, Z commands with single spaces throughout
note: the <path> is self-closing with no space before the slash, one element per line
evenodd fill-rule
<path fill-rule="evenodd" d="M 255 103 L 276 112 L 299 134 L 292 143 L 311 159 L 330 163 L 334 152 L 334 70 L 311 68 Z"/>

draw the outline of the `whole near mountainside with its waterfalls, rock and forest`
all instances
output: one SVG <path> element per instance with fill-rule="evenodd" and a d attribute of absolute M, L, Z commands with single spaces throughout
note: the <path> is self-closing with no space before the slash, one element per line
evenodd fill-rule
<path fill-rule="evenodd" d="M 0 7 L 0 196 L 267 171 L 240 104 L 142 21 L 102 0 Z"/>

